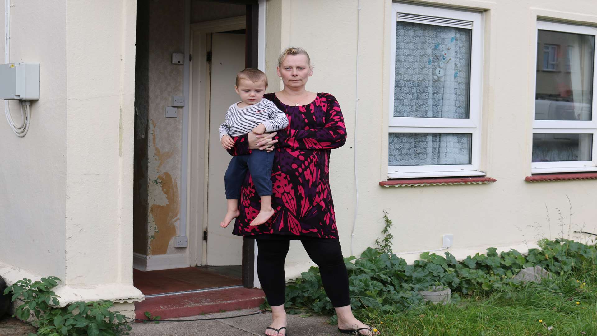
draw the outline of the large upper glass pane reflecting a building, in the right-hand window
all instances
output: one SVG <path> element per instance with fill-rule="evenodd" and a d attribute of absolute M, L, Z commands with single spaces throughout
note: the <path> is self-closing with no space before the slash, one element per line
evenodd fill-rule
<path fill-rule="evenodd" d="M 595 36 L 538 30 L 535 120 L 591 120 Z"/>

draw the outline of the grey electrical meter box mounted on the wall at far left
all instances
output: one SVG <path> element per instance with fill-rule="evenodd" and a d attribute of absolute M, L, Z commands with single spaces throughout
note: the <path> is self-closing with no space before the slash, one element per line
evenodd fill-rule
<path fill-rule="evenodd" d="M 39 63 L 0 65 L 0 99 L 38 100 Z"/>

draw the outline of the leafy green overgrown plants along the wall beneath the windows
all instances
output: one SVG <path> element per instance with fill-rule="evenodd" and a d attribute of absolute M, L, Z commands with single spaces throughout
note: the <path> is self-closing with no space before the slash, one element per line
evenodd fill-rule
<path fill-rule="evenodd" d="M 530 249 L 528 254 L 511 249 L 497 253 L 488 248 L 486 254 L 476 253 L 457 261 L 451 253 L 445 256 L 421 253 L 420 260 L 412 265 L 391 252 L 392 222 L 384 212 L 386 234 L 376 248 L 367 248 L 360 258 L 344 258 L 349 274 L 349 288 L 353 309 L 374 308 L 380 313 L 392 313 L 418 307 L 423 303 L 418 291 L 432 285 L 448 286 L 453 300 L 460 295 L 487 296 L 496 291 L 509 291 L 522 286 L 513 277 L 525 267 L 539 265 L 555 273 L 574 273 L 580 265 L 595 267 L 595 245 L 584 245 L 567 239 L 539 242 L 540 249 Z M 307 308 L 316 313 L 334 313 L 331 301 L 325 294 L 318 267 L 301 273 L 299 279 L 289 283 L 286 307 Z M 293 312 L 291 310 L 290 312 Z"/>

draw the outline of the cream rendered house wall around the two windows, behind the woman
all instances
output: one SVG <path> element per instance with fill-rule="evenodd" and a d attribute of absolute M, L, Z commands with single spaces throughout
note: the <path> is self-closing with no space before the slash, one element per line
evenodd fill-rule
<path fill-rule="evenodd" d="M 272 57 L 281 50 L 290 45 L 304 47 L 315 65 L 307 89 L 334 94 L 344 114 L 348 139 L 346 145 L 332 151 L 330 167 L 344 255 L 350 255 L 354 219 L 355 143 L 360 197 L 355 255 L 373 246 L 376 236 L 381 235 L 383 210 L 394 222 L 395 252 L 441 248 L 444 233 L 454 234 L 454 246 L 448 251 L 460 258 L 485 252 L 490 246 L 525 251 L 541 237 L 555 238 L 562 230 L 564 237 L 586 240 L 587 236 L 569 235 L 569 224 L 570 231 L 581 227 L 597 231 L 597 181 L 530 184 L 524 178 L 531 175 L 537 15 L 597 25 L 597 8 L 592 1 L 568 1 L 565 11 L 557 0 L 411 2 L 484 11 L 482 170 L 497 179 L 494 184 L 416 188 L 378 185 L 387 179 L 391 1 L 360 1 L 356 120 L 357 1 L 267 2 L 267 74 L 272 74 Z M 279 37 L 270 30 L 278 26 Z M 272 78 L 270 82 L 274 83 Z M 418 253 L 404 257 L 412 261 Z M 298 276 L 310 264 L 300 243 L 293 242 L 286 262 L 287 278 Z"/>

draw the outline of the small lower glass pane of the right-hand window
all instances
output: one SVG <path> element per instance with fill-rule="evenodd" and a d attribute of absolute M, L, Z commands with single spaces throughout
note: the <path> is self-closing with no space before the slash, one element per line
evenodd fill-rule
<path fill-rule="evenodd" d="M 590 161 L 593 135 L 534 134 L 533 162 Z"/>

